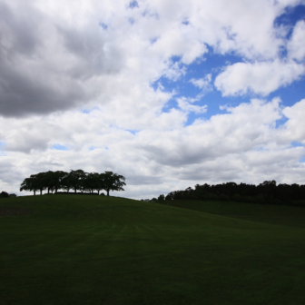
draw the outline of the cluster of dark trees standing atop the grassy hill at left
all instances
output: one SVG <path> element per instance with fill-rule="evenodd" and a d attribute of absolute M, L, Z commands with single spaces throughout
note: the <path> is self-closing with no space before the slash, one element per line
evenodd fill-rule
<path fill-rule="evenodd" d="M 109 196 L 110 191 L 124 191 L 124 185 L 126 185 L 125 177 L 113 172 L 49 171 L 38 172 L 25 178 L 25 181 L 21 183 L 20 191 L 34 192 L 34 195 L 39 191 L 42 195 L 44 190 L 47 193 L 57 193 L 59 190 L 64 192 L 73 190 L 75 193 L 97 191 L 98 194 L 104 190 Z"/>

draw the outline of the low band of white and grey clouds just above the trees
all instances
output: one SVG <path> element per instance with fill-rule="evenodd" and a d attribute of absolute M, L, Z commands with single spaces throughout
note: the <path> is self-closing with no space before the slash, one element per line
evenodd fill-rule
<path fill-rule="evenodd" d="M 187 127 L 183 127 L 182 117 L 172 129 L 166 124 L 157 129 L 152 124 L 135 134 L 103 123 L 103 112 L 97 110 L 50 114 L 44 120 L 4 119 L 0 128 L 5 126 L 8 132 L 1 139 L 6 142 L 6 156 L 0 157 L 5 171 L 0 187 L 16 192 L 31 173 L 78 168 L 125 175 L 126 192 L 120 194 L 133 198 L 152 197 L 203 182 L 302 182 L 305 166 L 299 160 L 305 148 L 290 143 L 305 139 L 304 131 L 296 133 L 304 105 L 303 100 L 282 110 L 279 99 L 269 103 L 252 100 Z M 156 114 L 154 120 L 157 124 L 174 123 L 171 117 L 177 118 L 179 113 Z M 288 121 L 276 128 L 282 113 Z M 30 126 L 34 126 L 34 134 L 26 132 Z M 24 142 L 19 143 L 15 133 L 20 133 Z M 44 138 L 43 145 L 34 138 Z M 24 143 L 32 145 L 30 152 Z M 54 143 L 66 145 L 69 150 L 54 150 Z"/>

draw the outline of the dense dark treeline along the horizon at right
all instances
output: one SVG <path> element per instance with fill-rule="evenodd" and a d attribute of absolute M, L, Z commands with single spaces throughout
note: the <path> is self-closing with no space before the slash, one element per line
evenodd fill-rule
<path fill-rule="evenodd" d="M 184 191 L 174 191 L 166 196 L 160 195 L 146 202 L 164 202 L 168 200 L 215 200 L 235 201 L 270 204 L 290 204 L 305 206 L 305 185 L 300 184 L 278 184 L 272 181 L 265 181 L 259 185 L 227 182 L 222 184 L 196 184 Z"/>

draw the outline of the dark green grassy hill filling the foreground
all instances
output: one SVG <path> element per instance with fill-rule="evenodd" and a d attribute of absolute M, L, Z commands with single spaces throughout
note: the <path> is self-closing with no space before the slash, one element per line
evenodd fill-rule
<path fill-rule="evenodd" d="M 0 218 L 1 305 L 305 304 L 305 229 L 293 221 L 102 196 L 7 205 L 33 213 Z"/>

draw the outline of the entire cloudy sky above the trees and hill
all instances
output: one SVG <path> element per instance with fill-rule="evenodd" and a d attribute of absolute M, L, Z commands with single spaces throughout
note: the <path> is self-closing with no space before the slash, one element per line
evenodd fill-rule
<path fill-rule="evenodd" d="M 304 118 L 304 0 L 0 0 L 0 191 L 305 184 Z"/>

